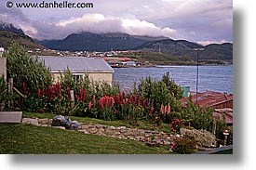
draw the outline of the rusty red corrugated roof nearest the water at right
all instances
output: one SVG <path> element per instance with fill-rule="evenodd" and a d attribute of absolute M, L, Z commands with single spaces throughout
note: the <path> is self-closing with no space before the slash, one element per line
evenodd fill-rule
<path fill-rule="evenodd" d="M 182 106 L 185 106 L 189 97 L 182 98 Z M 233 100 L 233 94 L 223 94 L 219 92 L 207 91 L 205 93 L 197 93 L 197 104 L 201 107 L 214 106 L 222 102 Z M 196 103 L 196 95 L 192 96 L 192 101 Z"/>

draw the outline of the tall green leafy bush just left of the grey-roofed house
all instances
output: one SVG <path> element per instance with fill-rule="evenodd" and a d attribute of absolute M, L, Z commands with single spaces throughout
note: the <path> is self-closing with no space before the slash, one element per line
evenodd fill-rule
<path fill-rule="evenodd" d="M 29 57 L 18 43 L 13 43 L 8 49 L 7 77 L 13 78 L 14 86 L 21 92 L 30 94 L 52 84 L 50 72 L 43 62 Z"/>

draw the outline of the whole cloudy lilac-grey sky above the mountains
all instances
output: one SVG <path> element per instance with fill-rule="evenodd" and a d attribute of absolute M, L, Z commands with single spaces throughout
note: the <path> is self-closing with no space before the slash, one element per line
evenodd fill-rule
<path fill-rule="evenodd" d="M 14 6 L 7 8 L 7 2 Z M 54 0 L 45 0 L 50 3 Z M 64 0 L 55 0 L 63 2 Z M 232 0 L 66 0 L 91 8 L 18 8 L 0 0 L 0 20 L 36 39 L 63 39 L 71 33 L 128 33 L 166 36 L 202 45 L 233 42 Z"/>

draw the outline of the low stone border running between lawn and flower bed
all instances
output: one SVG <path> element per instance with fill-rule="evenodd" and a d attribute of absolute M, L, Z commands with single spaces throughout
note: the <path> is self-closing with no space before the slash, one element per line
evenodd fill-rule
<path fill-rule="evenodd" d="M 22 124 L 34 124 L 39 126 L 51 126 L 52 119 L 23 118 Z M 52 126 L 55 128 L 65 129 L 62 126 Z M 175 135 L 157 132 L 152 130 L 143 130 L 137 128 L 127 128 L 126 126 L 109 126 L 102 124 L 84 124 L 81 123 L 78 128 L 79 132 L 84 134 L 95 134 L 105 137 L 115 137 L 120 139 L 131 139 L 142 142 L 155 142 L 157 144 L 169 145 L 171 140 L 176 138 Z"/>

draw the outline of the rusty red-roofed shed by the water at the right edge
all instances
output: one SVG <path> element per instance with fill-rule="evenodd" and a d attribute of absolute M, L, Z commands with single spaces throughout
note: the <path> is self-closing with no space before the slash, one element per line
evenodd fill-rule
<path fill-rule="evenodd" d="M 183 107 L 188 103 L 189 98 L 181 99 Z M 192 95 L 191 98 L 195 104 L 197 100 L 197 104 L 201 107 L 212 106 L 214 109 L 233 109 L 233 94 L 206 91 L 204 93 L 197 93 L 197 97 L 196 95 Z"/>

